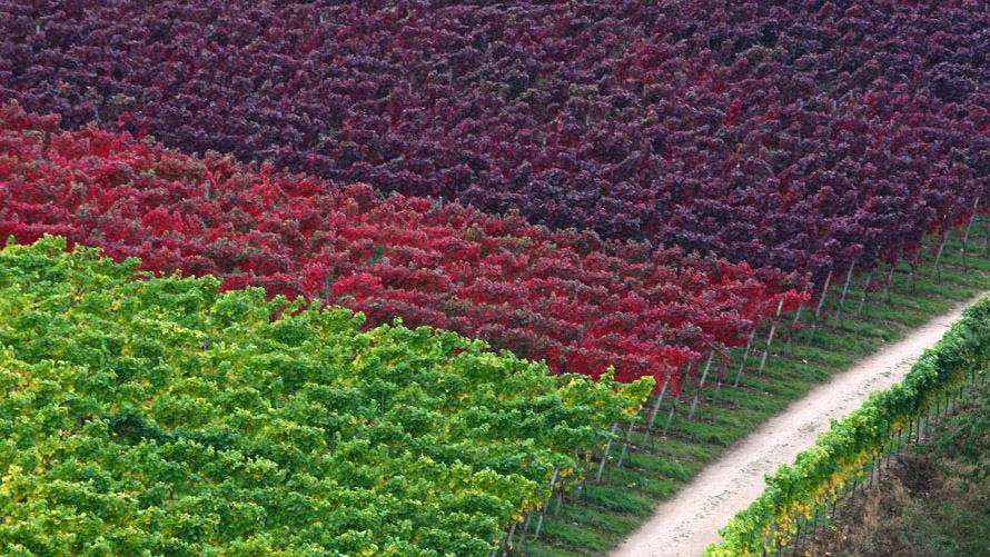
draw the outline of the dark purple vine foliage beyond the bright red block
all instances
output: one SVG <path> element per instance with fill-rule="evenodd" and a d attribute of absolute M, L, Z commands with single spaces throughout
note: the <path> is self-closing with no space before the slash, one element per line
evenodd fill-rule
<path fill-rule="evenodd" d="M 0 97 L 187 152 L 823 272 L 863 231 L 870 267 L 983 195 L 988 20 L 961 1 L 50 2 L 0 22 Z M 877 198 L 901 226 L 878 222 Z"/>

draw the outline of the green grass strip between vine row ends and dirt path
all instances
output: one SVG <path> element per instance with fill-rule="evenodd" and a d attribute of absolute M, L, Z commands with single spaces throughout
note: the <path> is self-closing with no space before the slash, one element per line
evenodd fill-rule
<path fill-rule="evenodd" d="M 673 404 L 669 397 L 660 408 L 652 435 L 647 436 L 642 427 L 633 431 L 631 449 L 621 468 L 616 466 L 620 445 L 614 444 L 601 484 L 594 481 L 595 465 L 588 470 L 587 483 L 580 496 L 577 490 L 570 490 L 560 511 L 555 511 L 556 500 L 550 505 L 539 539 L 532 539 L 531 526 L 531 536 L 522 555 L 573 557 L 607 553 L 647 518 L 656 504 L 676 494 L 723 449 L 753 431 L 766 418 L 884 344 L 902 338 L 912 328 L 947 312 L 958 302 L 990 289 L 990 259 L 980 256 L 980 245 L 981 241 L 970 242 L 967 251 L 969 268 L 963 269 L 956 265 L 961 243 L 954 238 L 950 240 L 942 256 L 941 282 L 931 278 L 934 255 L 929 246 L 924 252 L 925 261 L 915 269 L 913 288 L 910 285 L 911 268 L 901 263 L 893 276 L 892 300 L 881 305 L 881 292 L 870 292 L 861 316 L 855 314 L 865 276 L 854 276 L 841 322 L 820 322 L 813 340 L 809 340 L 813 308 L 812 311 L 805 308 L 801 329 L 793 341 L 789 346 L 786 337 L 779 330 L 769 365 L 764 374 L 758 376 L 756 368 L 769 334 L 761 329 L 737 388 L 733 388 L 732 382 L 741 361 L 739 350 L 725 368 L 717 400 L 714 395 L 719 378 L 712 377 L 702 389 L 702 404 L 694 419 L 687 419 L 695 391 L 690 389 L 690 395 L 685 392 L 681 397 L 670 430 L 663 436 Z M 843 281 L 844 276 L 832 285 L 823 315 L 834 315 Z M 791 320 L 785 322 L 784 330 Z M 600 459 L 601 455 L 593 458 L 595 461 Z"/>

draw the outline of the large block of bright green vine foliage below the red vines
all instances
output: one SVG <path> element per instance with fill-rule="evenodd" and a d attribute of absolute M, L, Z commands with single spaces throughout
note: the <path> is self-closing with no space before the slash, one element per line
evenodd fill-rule
<path fill-rule="evenodd" d="M 0 554 L 489 555 L 652 379 L 0 251 Z"/>

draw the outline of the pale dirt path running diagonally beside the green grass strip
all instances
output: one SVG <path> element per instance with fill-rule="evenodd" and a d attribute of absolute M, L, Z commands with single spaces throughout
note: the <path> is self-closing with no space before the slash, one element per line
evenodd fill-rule
<path fill-rule="evenodd" d="M 773 416 L 734 444 L 671 500 L 662 504 L 612 557 L 696 557 L 719 540 L 719 528 L 748 507 L 766 487 L 765 473 L 793 462 L 829 428 L 860 407 L 867 396 L 899 382 L 925 348 L 934 346 L 977 298 L 921 326 L 847 371 L 812 388 L 782 414 Z"/>

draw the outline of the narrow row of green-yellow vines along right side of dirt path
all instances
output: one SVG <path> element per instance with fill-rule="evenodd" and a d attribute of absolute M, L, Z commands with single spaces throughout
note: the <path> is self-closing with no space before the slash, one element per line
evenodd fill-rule
<path fill-rule="evenodd" d="M 914 364 L 904 380 L 874 392 L 841 421 L 832 420 L 814 448 L 793 466 L 768 476 L 768 488 L 720 530 L 722 541 L 709 557 L 761 555 L 794 536 L 800 518 L 835 498 L 836 490 L 863 476 L 864 465 L 882 456 L 898 431 L 927 416 L 935 401 L 986 374 L 990 364 L 990 298 L 969 307 L 962 318 Z"/>

